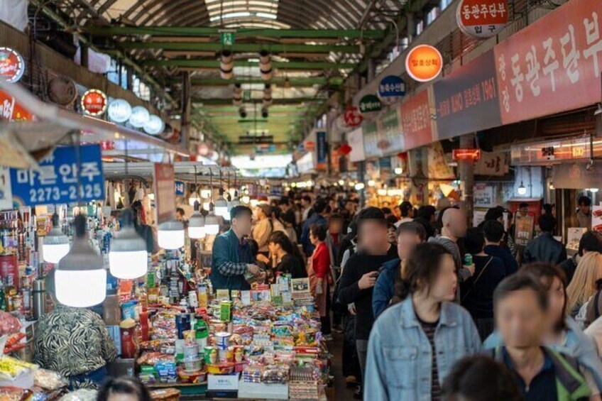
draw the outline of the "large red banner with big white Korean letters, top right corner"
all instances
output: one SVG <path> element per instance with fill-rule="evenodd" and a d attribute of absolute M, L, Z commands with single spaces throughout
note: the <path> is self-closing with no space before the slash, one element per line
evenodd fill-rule
<path fill-rule="evenodd" d="M 497 45 L 502 123 L 600 101 L 601 26 L 601 0 L 573 0 Z"/>

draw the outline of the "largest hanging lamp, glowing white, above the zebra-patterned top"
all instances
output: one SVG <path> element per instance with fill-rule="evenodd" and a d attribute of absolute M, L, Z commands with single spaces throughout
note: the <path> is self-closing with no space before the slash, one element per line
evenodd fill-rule
<path fill-rule="evenodd" d="M 104 260 L 87 238 L 87 219 L 75 217 L 73 246 L 56 267 L 55 290 L 58 302 L 69 307 L 92 307 L 106 297 Z"/>

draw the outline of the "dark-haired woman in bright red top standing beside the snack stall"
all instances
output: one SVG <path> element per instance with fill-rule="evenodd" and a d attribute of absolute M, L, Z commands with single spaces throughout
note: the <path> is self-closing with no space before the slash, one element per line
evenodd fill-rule
<path fill-rule="evenodd" d="M 326 246 L 326 227 L 312 224 L 310 227 L 310 241 L 314 246 L 314 253 L 310 258 L 310 285 L 314 295 L 317 309 L 322 322 L 324 338 L 332 339 L 330 328 L 330 253 Z"/>

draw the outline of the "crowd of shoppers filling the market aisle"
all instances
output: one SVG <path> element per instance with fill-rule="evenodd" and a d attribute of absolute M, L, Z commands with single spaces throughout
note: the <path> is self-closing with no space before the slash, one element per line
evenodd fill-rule
<path fill-rule="evenodd" d="M 591 202 L 579 205 L 591 217 Z M 601 400 L 602 235 L 587 231 L 567 258 L 553 213 L 542 208 L 521 247 L 502 207 L 469 228 L 452 202 L 362 208 L 356 194 L 289 194 L 232 209 L 212 276 L 229 289 L 309 278 L 357 398 Z"/>

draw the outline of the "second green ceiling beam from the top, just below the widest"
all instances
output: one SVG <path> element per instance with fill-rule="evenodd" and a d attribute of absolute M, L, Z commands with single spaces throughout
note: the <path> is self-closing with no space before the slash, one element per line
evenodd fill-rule
<path fill-rule="evenodd" d="M 221 43 L 185 43 L 185 42 L 119 42 L 124 49 L 163 49 L 219 52 L 224 49 Z M 238 53 L 259 53 L 268 50 L 271 53 L 360 53 L 358 45 L 297 45 L 280 43 L 235 43 L 227 47 Z"/>

